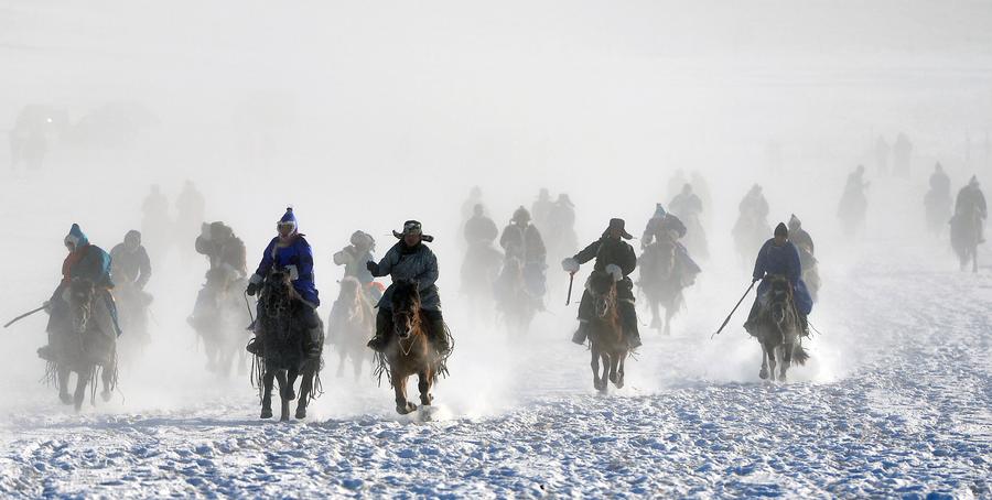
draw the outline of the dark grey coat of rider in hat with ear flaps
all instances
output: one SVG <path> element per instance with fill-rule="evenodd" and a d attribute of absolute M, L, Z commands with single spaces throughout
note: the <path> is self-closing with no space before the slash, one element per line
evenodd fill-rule
<path fill-rule="evenodd" d="M 441 295 L 438 294 L 438 286 L 434 284 L 438 281 L 438 258 L 427 244 L 420 243 L 412 251 L 407 251 L 405 246 L 402 241 L 393 244 L 379 261 L 378 269 L 373 271 L 374 276 L 389 275 L 393 282 L 386 289 L 378 307 L 391 309 L 395 283 L 398 280 L 406 280 L 420 284 L 420 306 L 423 309 L 441 311 Z"/>

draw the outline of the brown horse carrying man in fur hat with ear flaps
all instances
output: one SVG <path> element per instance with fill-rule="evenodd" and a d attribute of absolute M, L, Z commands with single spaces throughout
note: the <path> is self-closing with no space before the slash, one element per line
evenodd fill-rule
<path fill-rule="evenodd" d="M 397 280 L 392 285 L 392 331 L 376 371 L 386 372 L 396 393 L 396 411 L 406 415 L 417 410 L 416 404 L 407 401 L 407 380 L 417 376 L 420 404 L 428 406 L 434 400 L 431 394 L 434 379 L 444 368 L 441 356 L 428 339 L 418 284 Z"/>

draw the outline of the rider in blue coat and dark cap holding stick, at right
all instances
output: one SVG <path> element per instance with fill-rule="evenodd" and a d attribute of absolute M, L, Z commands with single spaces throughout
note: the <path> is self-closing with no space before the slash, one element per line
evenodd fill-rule
<path fill-rule="evenodd" d="M 799 260 L 799 250 L 789 241 L 789 229 L 781 222 L 778 222 L 778 226 L 775 227 L 775 237 L 765 241 L 765 244 L 762 246 L 754 262 L 753 280 L 762 283 L 758 285 L 754 305 L 751 307 L 751 314 L 748 314 L 747 320 L 744 323 L 744 329 L 748 333 L 753 333 L 758 313 L 761 313 L 764 304 L 763 301 L 765 301 L 765 292 L 770 286 L 768 278 L 773 275 L 784 275 L 789 280 L 789 284 L 792 286 L 796 312 L 799 313 L 799 323 L 804 335 L 809 335 L 807 316 L 812 311 L 812 297 L 809 295 L 806 282 L 802 280 L 802 264 Z"/>

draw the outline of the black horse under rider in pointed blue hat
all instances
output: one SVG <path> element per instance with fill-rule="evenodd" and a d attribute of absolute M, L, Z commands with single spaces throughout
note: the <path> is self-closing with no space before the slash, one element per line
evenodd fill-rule
<path fill-rule="evenodd" d="M 272 380 L 279 380 L 279 394 L 282 399 L 280 421 L 289 420 L 290 401 L 295 399 L 293 384 L 298 377 L 300 383 L 300 401 L 296 404 L 296 419 L 306 417 L 306 404 L 314 393 L 314 380 L 321 369 L 320 357 L 308 357 L 304 348 L 304 336 L 311 328 L 323 329 L 316 314 L 304 307 L 300 295 L 290 282 L 290 274 L 273 269 L 262 286 L 259 296 L 259 327 L 262 329 L 262 361 L 256 374 L 262 390 L 262 419 L 272 416 Z M 310 319 L 312 318 L 312 319 Z M 316 323 L 315 325 L 310 324 Z M 321 341 L 323 344 L 323 341 Z"/>

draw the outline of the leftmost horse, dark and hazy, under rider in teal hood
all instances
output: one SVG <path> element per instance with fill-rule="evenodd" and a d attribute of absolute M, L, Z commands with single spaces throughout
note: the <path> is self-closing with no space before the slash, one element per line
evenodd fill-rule
<path fill-rule="evenodd" d="M 117 331 L 108 304 L 110 298 L 104 293 L 89 280 L 73 279 L 65 295 L 67 325 L 52 337 L 55 361 L 50 363 L 50 370 L 54 369 L 58 398 L 65 404 L 73 404 L 77 412 L 83 407 L 88 383 L 93 382 L 96 393 L 98 373 L 104 384 L 100 393 L 104 401 L 110 400 L 117 383 Z M 76 373 L 76 390 L 71 396 L 72 372 Z"/>

